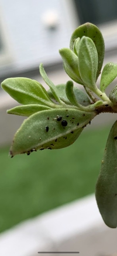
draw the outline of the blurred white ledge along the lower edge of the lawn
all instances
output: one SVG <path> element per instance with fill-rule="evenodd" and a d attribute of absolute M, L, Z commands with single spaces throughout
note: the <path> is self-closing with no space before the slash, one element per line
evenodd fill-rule
<path fill-rule="evenodd" d="M 103 227 L 104 224 L 95 196 L 87 196 L 3 232 L 0 235 L 0 255 L 36 256 L 38 251 L 100 225 Z"/>

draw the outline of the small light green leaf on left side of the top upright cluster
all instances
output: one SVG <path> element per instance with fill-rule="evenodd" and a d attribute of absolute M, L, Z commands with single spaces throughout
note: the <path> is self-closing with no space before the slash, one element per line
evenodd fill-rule
<path fill-rule="evenodd" d="M 59 53 L 63 59 L 64 70 L 68 76 L 72 78 L 76 83 L 83 85 L 78 69 L 77 55 L 75 55 L 75 53 L 68 48 L 62 48 L 59 50 Z"/>

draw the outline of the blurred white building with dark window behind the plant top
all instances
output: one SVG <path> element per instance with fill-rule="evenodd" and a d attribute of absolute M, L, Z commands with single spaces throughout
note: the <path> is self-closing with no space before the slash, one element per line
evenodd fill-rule
<path fill-rule="evenodd" d="M 68 47 L 78 25 L 101 27 L 106 49 L 116 48 L 116 0 L 1 0 L 0 78 L 38 70 L 39 63 L 61 63 L 59 49 Z"/>

